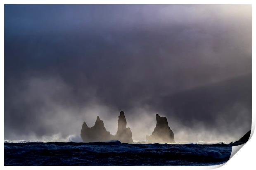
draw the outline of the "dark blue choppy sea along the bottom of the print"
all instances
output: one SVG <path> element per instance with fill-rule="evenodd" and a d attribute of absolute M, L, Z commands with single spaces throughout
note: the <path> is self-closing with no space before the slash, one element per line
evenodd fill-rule
<path fill-rule="evenodd" d="M 5 142 L 5 165 L 218 165 L 228 144 Z"/>

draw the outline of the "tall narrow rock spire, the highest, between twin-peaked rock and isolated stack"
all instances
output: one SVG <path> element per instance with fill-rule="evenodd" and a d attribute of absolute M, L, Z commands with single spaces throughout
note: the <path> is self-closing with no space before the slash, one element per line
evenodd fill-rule
<path fill-rule="evenodd" d="M 123 143 L 133 143 L 132 136 L 130 127 L 126 128 L 126 117 L 124 116 L 124 112 L 121 111 L 120 116 L 118 117 L 118 128 L 115 138 Z"/>

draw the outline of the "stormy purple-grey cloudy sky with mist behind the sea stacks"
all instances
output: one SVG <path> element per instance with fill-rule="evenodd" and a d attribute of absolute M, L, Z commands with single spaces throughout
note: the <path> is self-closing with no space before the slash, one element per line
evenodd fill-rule
<path fill-rule="evenodd" d="M 5 5 L 5 140 L 79 140 L 99 115 L 134 140 L 251 129 L 251 5 Z"/>

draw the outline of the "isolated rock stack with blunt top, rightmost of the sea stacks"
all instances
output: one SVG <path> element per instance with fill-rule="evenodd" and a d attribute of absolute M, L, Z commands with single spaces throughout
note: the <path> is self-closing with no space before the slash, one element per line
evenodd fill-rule
<path fill-rule="evenodd" d="M 168 126 L 166 117 L 156 114 L 156 127 L 151 136 L 146 136 L 147 143 L 175 143 L 174 134 Z"/>

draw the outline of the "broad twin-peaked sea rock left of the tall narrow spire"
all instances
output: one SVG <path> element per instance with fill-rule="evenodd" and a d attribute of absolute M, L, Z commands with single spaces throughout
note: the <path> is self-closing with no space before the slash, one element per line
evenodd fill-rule
<path fill-rule="evenodd" d="M 110 132 L 104 127 L 104 123 L 100 120 L 100 117 L 97 116 L 95 125 L 88 127 L 85 122 L 83 122 L 81 130 L 81 138 L 83 142 L 105 142 L 108 140 L 113 140 L 114 136 L 110 135 Z"/>

